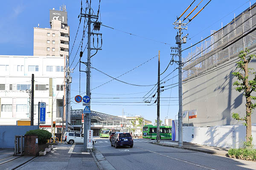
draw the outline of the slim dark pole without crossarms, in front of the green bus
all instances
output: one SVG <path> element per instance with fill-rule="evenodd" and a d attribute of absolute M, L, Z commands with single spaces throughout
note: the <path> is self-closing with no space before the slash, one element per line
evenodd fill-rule
<path fill-rule="evenodd" d="M 158 80 L 157 80 L 157 143 L 160 142 L 160 51 L 158 51 Z"/>

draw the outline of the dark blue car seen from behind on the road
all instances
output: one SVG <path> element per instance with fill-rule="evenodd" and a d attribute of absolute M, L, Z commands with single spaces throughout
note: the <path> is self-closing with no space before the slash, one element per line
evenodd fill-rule
<path fill-rule="evenodd" d="M 115 133 L 111 138 L 111 146 L 130 146 L 133 147 L 133 139 L 130 133 Z"/>

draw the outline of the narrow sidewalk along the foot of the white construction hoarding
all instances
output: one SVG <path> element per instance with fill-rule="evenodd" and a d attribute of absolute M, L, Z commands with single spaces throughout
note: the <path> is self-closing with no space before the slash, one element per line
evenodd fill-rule
<path fill-rule="evenodd" d="M 214 147 L 214 146 L 206 146 L 201 144 L 183 142 L 183 147 L 180 147 L 177 141 L 168 141 L 168 140 L 160 140 L 160 143 L 152 142 L 153 144 L 158 144 L 167 147 L 176 147 L 180 149 L 186 150 L 194 150 L 198 152 L 210 153 L 214 155 L 227 156 L 228 148 L 224 147 Z"/>

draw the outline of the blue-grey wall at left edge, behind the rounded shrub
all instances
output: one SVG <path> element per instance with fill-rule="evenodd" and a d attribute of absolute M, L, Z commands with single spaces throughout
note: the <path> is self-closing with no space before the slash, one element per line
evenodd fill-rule
<path fill-rule="evenodd" d="M 14 148 L 15 136 L 25 135 L 29 130 L 38 126 L 0 126 L 0 148 Z"/>

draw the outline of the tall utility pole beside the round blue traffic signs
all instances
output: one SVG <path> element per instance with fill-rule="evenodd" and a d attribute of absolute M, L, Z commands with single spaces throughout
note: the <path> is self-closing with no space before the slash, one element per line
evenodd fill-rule
<path fill-rule="evenodd" d="M 82 7 L 81 7 L 80 16 L 88 18 L 88 20 L 87 20 L 87 27 L 88 27 L 88 33 L 87 33 L 88 34 L 88 40 L 87 40 L 87 42 L 88 42 L 87 43 L 87 62 L 80 61 L 80 63 L 83 63 L 83 64 L 85 64 L 87 66 L 86 71 L 82 71 L 82 72 L 86 73 L 86 95 L 89 96 L 89 98 L 91 98 L 91 93 L 90 93 L 90 68 L 91 68 L 91 62 L 90 62 L 90 58 L 93 57 L 97 53 L 96 52 L 95 54 L 93 54 L 91 56 L 91 50 L 97 50 L 97 51 L 98 50 L 102 50 L 101 49 L 102 44 L 101 44 L 101 46 L 99 48 L 91 48 L 91 35 L 93 34 L 93 35 L 97 35 L 97 36 L 98 35 L 102 36 L 101 33 L 93 33 L 93 32 L 91 32 L 91 24 L 92 23 L 94 24 L 93 25 L 94 26 L 93 27 L 94 30 L 98 30 L 99 31 L 101 23 L 97 21 L 98 18 L 99 18 L 98 15 L 91 14 L 91 7 L 90 6 L 89 6 L 88 14 L 83 14 L 82 13 Z M 96 21 L 92 21 L 91 19 L 96 19 Z M 93 46 L 94 46 L 94 44 L 93 44 Z M 97 47 L 98 47 L 98 45 L 97 45 Z M 83 55 L 83 51 L 80 52 L 80 57 L 82 57 L 82 55 Z M 81 71 L 80 68 L 79 68 L 79 71 Z M 90 109 L 90 101 L 88 102 L 88 107 Z M 90 113 L 89 114 L 84 114 L 84 151 L 85 152 L 88 152 L 88 149 L 87 149 L 87 131 L 90 130 L 90 125 L 91 125 Z"/>

